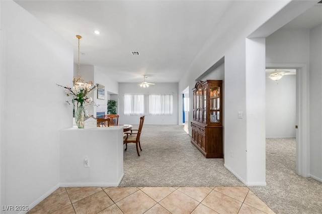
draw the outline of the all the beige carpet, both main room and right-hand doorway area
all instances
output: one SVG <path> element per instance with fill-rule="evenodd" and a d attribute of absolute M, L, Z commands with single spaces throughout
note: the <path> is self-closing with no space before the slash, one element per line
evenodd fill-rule
<path fill-rule="evenodd" d="M 138 157 L 124 152 L 120 186 L 245 186 L 224 166 L 206 159 L 183 126 L 144 125 Z M 295 172 L 295 139 L 267 139 L 267 186 L 249 188 L 276 213 L 322 213 L 322 183 Z"/>

